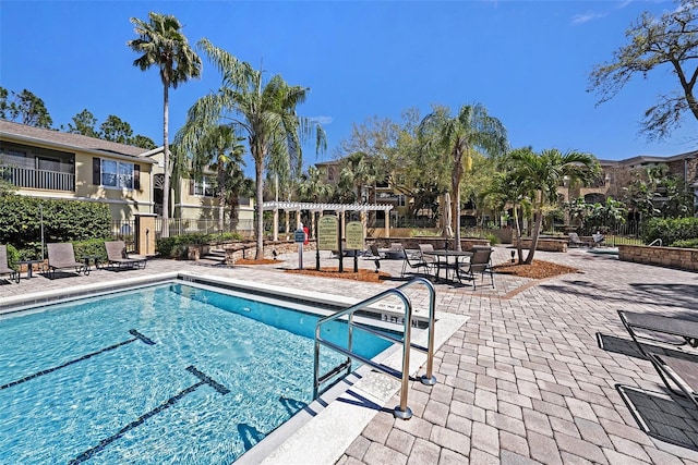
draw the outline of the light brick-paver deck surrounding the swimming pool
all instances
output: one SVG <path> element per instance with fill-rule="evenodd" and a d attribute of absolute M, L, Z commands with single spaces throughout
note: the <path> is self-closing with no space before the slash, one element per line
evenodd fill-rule
<path fill-rule="evenodd" d="M 509 250 L 495 247 L 494 262 L 507 261 Z M 231 268 L 153 259 L 145 270 L 93 270 L 87 277 L 55 280 L 35 274 L 20 284 L 2 281 L 0 301 L 174 271 L 353 298 L 405 282 L 366 284 L 285 273 L 284 268 L 298 267 L 298 259 L 281 258 L 270 266 Z M 314 255 L 304 258 L 306 268 L 314 265 Z M 698 464 L 698 411 L 667 394 L 617 316 L 625 309 L 698 319 L 698 273 L 583 249 L 537 252 L 535 258 L 579 273 L 538 281 L 497 274 L 494 290 L 474 292 L 436 284 L 437 311 L 468 317 L 436 352 L 438 383 L 411 382 L 410 420 L 394 419 L 397 396 L 387 409 L 374 407 L 375 415 L 337 463 Z M 323 253 L 322 266 L 336 262 Z M 373 268 L 370 260 L 359 262 Z M 345 269 L 351 266 L 345 259 Z M 384 260 L 381 270 L 399 277 L 401 266 Z M 410 296 L 416 306 L 424 306 L 426 293 Z"/>

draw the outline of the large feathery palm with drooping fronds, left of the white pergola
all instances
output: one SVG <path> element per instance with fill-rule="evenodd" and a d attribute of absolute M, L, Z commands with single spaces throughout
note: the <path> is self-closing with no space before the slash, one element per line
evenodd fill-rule
<path fill-rule="evenodd" d="M 198 46 L 222 74 L 217 93 L 200 98 L 189 110 L 190 120 L 204 124 L 230 121 L 238 134 L 244 134 L 254 159 L 256 259 L 264 257 L 264 171 L 267 162 L 278 167 L 278 160 L 294 171 L 302 166 L 302 140 L 315 132 L 316 150 L 326 148 L 325 132 L 313 120 L 296 113 L 305 101 L 309 89 L 288 85 L 280 75 L 263 85 L 262 71 L 239 61 L 207 39 Z"/>

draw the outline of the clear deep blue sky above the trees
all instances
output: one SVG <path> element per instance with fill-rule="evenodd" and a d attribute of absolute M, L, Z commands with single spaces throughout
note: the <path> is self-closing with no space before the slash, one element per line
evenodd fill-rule
<path fill-rule="evenodd" d="M 132 65 L 132 16 L 176 15 L 194 45 L 206 37 L 267 77 L 311 88 L 298 111 L 318 118 L 334 159 L 353 123 L 400 120 L 408 108 L 456 111 L 482 103 L 507 127 L 513 147 L 588 151 L 600 159 L 669 156 L 695 149 L 697 124 L 661 144 L 638 134 L 643 111 L 678 84 L 670 70 L 639 76 L 597 107 L 586 91 L 594 64 L 612 59 L 642 11 L 671 1 L 13 1 L 0 3 L 0 85 L 43 98 L 56 127 L 88 109 L 116 114 L 157 144 L 163 135 L 158 72 Z M 170 134 L 189 107 L 218 88 L 204 60 L 201 79 L 170 91 Z M 691 143 L 693 138 L 693 143 Z M 250 168 L 251 162 L 248 162 Z"/>

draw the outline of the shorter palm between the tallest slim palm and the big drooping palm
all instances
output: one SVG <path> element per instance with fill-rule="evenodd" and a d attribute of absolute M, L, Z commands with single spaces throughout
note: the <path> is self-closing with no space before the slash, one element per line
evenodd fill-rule
<path fill-rule="evenodd" d="M 203 170 L 210 167 L 216 170 L 216 189 L 218 194 L 218 229 L 224 229 L 225 207 L 228 192 L 226 176 L 229 164 L 244 164 L 242 155 L 243 137 L 238 137 L 230 125 L 218 124 L 203 126 L 196 120 L 188 120 L 177 132 L 174 144 L 178 154 L 191 156 L 191 167 L 195 179 L 201 179 Z"/>

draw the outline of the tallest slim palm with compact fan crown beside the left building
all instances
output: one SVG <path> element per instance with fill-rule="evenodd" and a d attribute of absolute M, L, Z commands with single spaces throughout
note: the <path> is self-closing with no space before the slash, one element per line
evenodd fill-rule
<path fill-rule="evenodd" d="M 160 69 L 163 81 L 163 146 L 165 183 L 163 186 L 163 236 L 169 235 L 167 220 L 169 218 L 170 166 L 169 166 L 169 88 L 177 88 L 181 83 L 201 75 L 202 62 L 196 52 L 189 46 L 182 34 L 182 25 L 177 17 L 166 14 L 148 13 L 149 22 L 136 17 L 131 19 L 139 38 L 129 40 L 127 45 L 136 53 L 143 53 L 133 61 L 133 65 L 145 71 L 153 65 Z"/>

